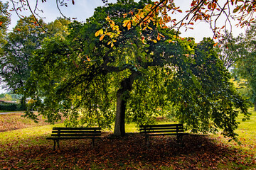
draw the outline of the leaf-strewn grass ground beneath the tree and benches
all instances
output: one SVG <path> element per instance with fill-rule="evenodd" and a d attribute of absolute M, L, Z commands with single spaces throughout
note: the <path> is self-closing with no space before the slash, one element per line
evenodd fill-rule
<path fill-rule="evenodd" d="M 62 141 L 63 147 L 56 152 L 46 137 L 63 123 L 34 126 L 16 115 L 0 115 L 0 126 L 4 118 L 13 124 L 31 125 L 0 132 L 0 169 L 256 169 L 256 112 L 251 113 L 245 122 L 242 115 L 238 117 L 236 132 L 242 145 L 227 142 L 221 135 L 208 135 L 185 138 L 186 147 L 177 146 L 174 138 L 154 137 L 145 147 L 144 138 L 135 134 L 105 138 L 95 149 L 90 147 L 90 140 Z M 126 132 L 138 132 L 136 125 L 126 125 Z"/>

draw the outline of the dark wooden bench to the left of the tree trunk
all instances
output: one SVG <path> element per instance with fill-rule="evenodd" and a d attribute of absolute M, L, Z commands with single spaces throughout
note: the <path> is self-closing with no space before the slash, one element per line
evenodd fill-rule
<path fill-rule="evenodd" d="M 53 150 L 57 143 L 60 147 L 60 140 L 77 140 L 77 139 L 92 139 L 92 147 L 95 146 L 95 139 L 100 138 L 101 128 L 53 128 L 51 137 L 46 140 L 53 140 Z"/>

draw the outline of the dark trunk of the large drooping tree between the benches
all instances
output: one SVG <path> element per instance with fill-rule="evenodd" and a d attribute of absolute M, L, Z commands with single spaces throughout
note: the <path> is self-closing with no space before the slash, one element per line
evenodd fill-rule
<path fill-rule="evenodd" d="M 132 72 L 129 78 L 125 78 L 121 82 L 121 89 L 117 91 L 117 112 L 114 123 L 114 135 L 123 137 L 125 135 L 125 111 L 129 98 L 129 91 L 132 90 L 134 79 L 139 75 Z"/>

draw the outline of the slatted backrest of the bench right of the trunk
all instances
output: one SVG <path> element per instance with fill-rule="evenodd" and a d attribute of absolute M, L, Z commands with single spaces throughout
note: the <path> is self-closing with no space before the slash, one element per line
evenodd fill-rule
<path fill-rule="evenodd" d="M 142 135 L 161 133 L 161 135 L 178 134 L 179 132 L 184 132 L 183 124 L 166 124 L 166 125 L 140 125 L 139 131 Z"/>

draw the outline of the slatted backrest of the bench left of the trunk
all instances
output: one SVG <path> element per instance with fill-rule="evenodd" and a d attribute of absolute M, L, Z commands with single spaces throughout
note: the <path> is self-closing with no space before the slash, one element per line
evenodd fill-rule
<path fill-rule="evenodd" d="M 101 135 L 101 128 L 53 128 L 54 137 L 96 137 Z"/>

